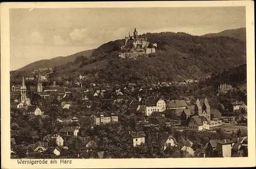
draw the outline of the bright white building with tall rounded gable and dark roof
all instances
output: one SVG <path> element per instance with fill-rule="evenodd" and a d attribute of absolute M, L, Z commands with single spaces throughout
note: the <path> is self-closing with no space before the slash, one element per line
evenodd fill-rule
<path fill-rule="evenodd" d="M 165 101 L 161 98 L 147 98 L 145 101 L 145 115 L 150 116 L 153 111 L 165 111 Z"/>

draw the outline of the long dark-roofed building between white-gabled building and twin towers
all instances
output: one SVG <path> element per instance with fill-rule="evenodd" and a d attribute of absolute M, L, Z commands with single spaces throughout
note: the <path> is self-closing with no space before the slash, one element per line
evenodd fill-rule
<path fill-rule="evenodd" d="M 166 116 L 173 118 L 177 116 L 180 111 L 186 109 L 187 103 L 185 100 L 168 100 L 166 102 Z"/>

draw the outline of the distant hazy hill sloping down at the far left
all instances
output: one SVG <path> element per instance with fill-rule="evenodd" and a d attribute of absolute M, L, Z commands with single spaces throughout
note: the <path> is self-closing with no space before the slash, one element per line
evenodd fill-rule
<path fill-rule="evenodd" d="M 68 62 L 73 62 L 76 59 L 76 57 L 79 55 L 90 57 L 93 50 L 94 49 L 80 51 L 78 53 L 69 55 L 67 57 L 56 57 L 53 59 L 36 61 L 22 68 L 19 68 L 17 71 L 31 71 L 33 69 L 38 69 L 38 68 L 53 68 L 55 66 L 67 64 Z"/>

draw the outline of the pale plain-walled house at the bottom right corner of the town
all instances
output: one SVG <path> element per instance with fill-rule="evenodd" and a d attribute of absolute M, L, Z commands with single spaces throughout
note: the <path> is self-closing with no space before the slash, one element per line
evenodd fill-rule
<path fill-rule="evenodd" d="M 236 142 L 236 138 L 232 140 L 217 140 L 218 157 L 231 157 L 231 149 Z"/>

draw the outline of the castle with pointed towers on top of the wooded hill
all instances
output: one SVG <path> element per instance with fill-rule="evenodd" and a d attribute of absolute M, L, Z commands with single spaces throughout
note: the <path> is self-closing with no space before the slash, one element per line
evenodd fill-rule
<path fill-rule="evenodd" d="M 135 28 L 133 36 L 124 38 L 124 45 L 121 46 L 121 51 L 119 53 L 120 58 L 133 58 L 137 59 L 139 55 L 147 56 L 149 53 L 156 52 L 156 45 L 154 47 L 149 47 L 150 42 L 147 41 L 146 35 L 145 38 L 139 38 L 138 32 Z"/>

